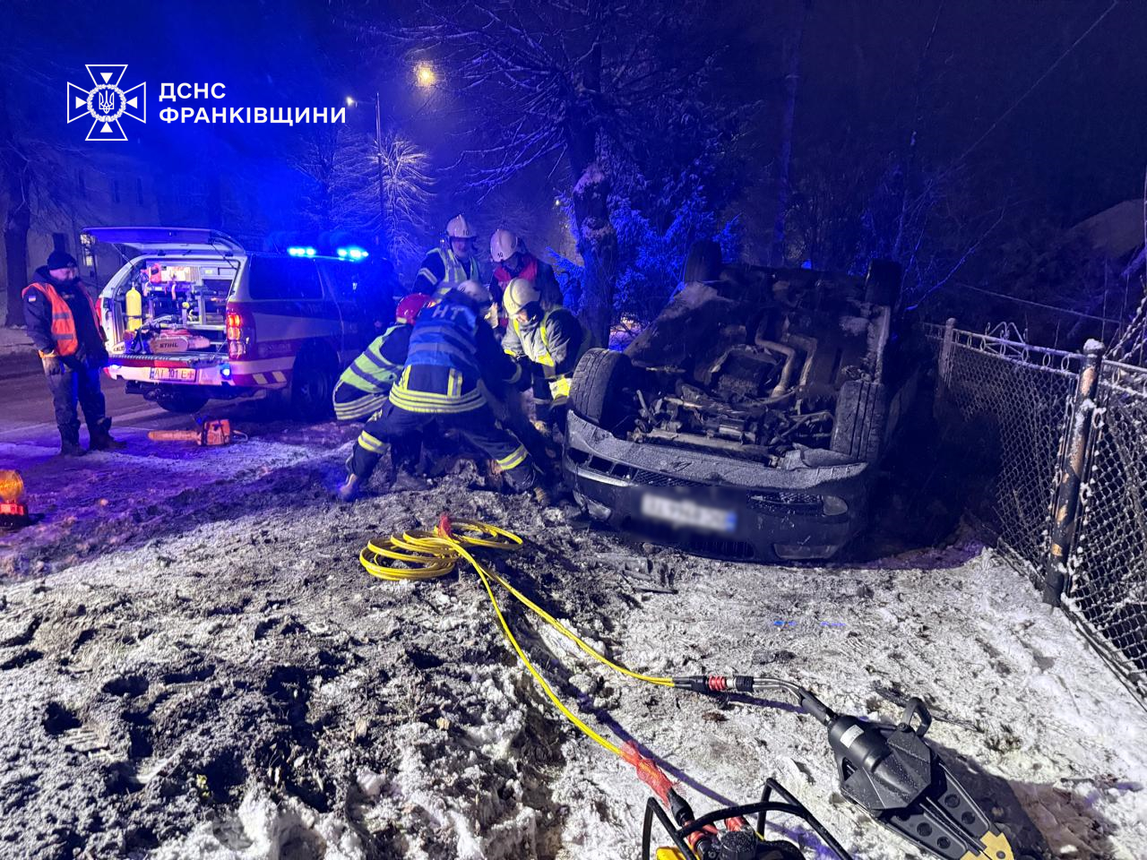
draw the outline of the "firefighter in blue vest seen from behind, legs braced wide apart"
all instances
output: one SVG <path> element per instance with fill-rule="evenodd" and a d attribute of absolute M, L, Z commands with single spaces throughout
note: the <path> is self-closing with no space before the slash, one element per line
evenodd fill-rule
<path fill-rule="evenodd" d="M 407 440 L 436 422 L 443 430 L 458 429 L 485 452 L 514 490 L 533 492 L 538 501 L 549 502 L 525 446 L 498 423 L 479 384 L 497 391 L 520 385 L 524 378 L 483 321 L 491 304 L 490 290 L 477 281 L 465 281 L 419 316 L 406 366 L 390 390 L 389 401 L 366 423 L 346 462 L 340 499 L 353 501 L 358 497 L 384 445 Z"/>

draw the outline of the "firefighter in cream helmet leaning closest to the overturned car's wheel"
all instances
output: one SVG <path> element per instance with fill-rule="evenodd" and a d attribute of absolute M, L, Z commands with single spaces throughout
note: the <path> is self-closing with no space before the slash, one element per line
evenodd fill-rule
<path fill-rule="evenodd" d="M 539 423 L 548 428 L 561 427 L 574 368 L 593 346 L 593 335 L 571 311 L 548 302 L 533 282 L 524 277 L 515 277 L 507 284 L 502 304 L 509 316 L 502 350 L 523 367 L 540 370 L 540 378 L 536 374 L 533 386 Z"/>

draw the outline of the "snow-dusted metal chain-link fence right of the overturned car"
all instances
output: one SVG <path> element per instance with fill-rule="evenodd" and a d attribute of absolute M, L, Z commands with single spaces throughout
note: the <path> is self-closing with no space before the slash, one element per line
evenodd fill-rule
<path fill-rule="evenodd" d="M 926 329 L 941 425 L 983 476 L 973 513 L 1045 597 L 1067 574 L 1061 604 L 1147 703 L 1147 369 L 1106 362 L 1094 384 L 1098 352 L 1089 375 L 1082 354 Z"/>

